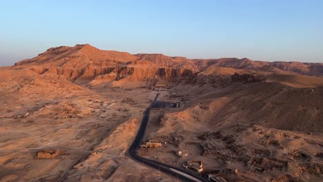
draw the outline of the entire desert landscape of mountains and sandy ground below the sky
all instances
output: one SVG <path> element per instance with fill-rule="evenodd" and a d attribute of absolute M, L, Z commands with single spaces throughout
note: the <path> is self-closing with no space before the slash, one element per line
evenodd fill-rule
<path fill-rule="evenodd" d="M 323 181 L 322 76 L 49 48 L 0 68 L 0 181 Z"/>

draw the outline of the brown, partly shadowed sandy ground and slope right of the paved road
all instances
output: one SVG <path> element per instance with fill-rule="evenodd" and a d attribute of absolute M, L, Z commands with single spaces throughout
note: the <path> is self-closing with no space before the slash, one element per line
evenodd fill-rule
<path fill-rule="evenodd" d="M 322 99 L 316 99 L 322 88 L 252 83 L 211 89 L 178 85 L 164 94 L 161 99 L 184 106 L 152 112 L 145 139 L 166 144 L 139 154 L 178 166 L 202 161 L 206 173 L 229 181 L 323 181 Z"/>

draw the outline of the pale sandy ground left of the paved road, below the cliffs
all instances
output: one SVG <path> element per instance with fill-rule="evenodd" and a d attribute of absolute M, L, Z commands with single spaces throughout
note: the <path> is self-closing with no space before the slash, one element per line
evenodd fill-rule
<path fill-rule="evenodd" d="M 84 88 L 59 78 L 1 88 L 0 181 L 173 181 L 124 156 L 155 97 L 150 90 Z M 45 149 L 62 152 L 35 158 Z"/>

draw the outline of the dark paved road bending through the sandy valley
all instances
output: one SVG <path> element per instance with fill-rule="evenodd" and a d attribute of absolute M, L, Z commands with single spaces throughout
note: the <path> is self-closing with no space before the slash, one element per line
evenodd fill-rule
<path fill-rule="evenodd" d="M 158 96 L 159 94 L 156 95 L 154 101 L 157 100 Z M 168 165 L 166 163 L 161 163 L 159 161 L 145 159 L 144 157 L 138 155 L 138 148 L 139 148 L 139 145 L 141 144 L 142 139 L 144 138 L 144 134 L 149 120 L 150 109 L 153 107 L 153 103 L 150 104 L 149 108 L 145 110 L 140 128 L 138 130 L 137 136 L 135 137 L 135 141 L 133 141 L 133 144 L 131 144 L 130 148 L 128 148 L 128 151 L 126 152 L 126 156 L 128 156 L 130 159 L 133 159 L 134 161 L 137 161 L 138 163 L 141 163 L 150 168 L 154 168 L 155 170 L 159 170 L 161 172 L 174 176 L 175 178 L 182 181 L 207 181 L 202 176 L 194 174 L 193 172 L 189 172 L 184 168 L 178 168 L 177 166 Z"/>

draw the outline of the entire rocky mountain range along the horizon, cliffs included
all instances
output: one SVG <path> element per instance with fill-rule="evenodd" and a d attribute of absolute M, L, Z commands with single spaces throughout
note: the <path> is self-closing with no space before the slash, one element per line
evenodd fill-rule
<path fill-rule="evenodd" d="M 89 44 L 49 48 L 35 58 L 15 63 L 13 68 L 28 68 L 38 74 L 54 73 L 79 83 L 126 78 L 130 81 L 146 81 L 151 77 L 170 81 L 198 72 L 208 75 L 266 72 L 323 76 L 322 63 L 266 62 L 247 58 L 187 59 L 163 54 L 99 50 Z"/>

